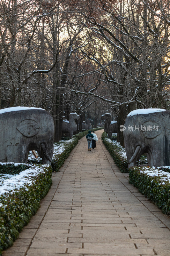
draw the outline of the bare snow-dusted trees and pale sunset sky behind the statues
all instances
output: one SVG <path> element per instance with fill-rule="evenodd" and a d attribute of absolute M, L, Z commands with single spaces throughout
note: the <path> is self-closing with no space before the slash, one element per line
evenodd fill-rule
<path fill-rule="evenodd" d="M 0 108 L 48 110 L 118 127 L 137 108 L 170 109 L 169 0 L 1 0 Z M 123 133 L 118 132 L 123 145 Z"/>

